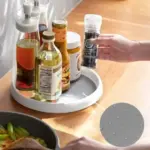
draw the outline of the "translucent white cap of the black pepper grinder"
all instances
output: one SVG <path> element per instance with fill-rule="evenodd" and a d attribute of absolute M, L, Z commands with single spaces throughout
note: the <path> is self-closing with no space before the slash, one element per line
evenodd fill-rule
<path fill-rule="evenodd" d="M 85 32 L 100 32 L 102 17 L 100 15 L 87 14 L 84 18 Z"/>

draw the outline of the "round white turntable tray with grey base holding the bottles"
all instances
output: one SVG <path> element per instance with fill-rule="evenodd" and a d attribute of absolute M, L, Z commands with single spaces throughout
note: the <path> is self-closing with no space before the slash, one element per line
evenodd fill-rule
<path fill-rule="evenodd" d="M 13 69 L 14 70 L 14 69 Z M 71 84 L 68 92 L 62 94 L 57 103 L 40 102 L 22 96 L 15 88 L 15 74 L 11 85 L 13 98 L 21 105 L 46 113 L 69 113 L 95 104 L 103 93 L 101 78 L 92 69 L 82 67 L 81 78 Z"/>

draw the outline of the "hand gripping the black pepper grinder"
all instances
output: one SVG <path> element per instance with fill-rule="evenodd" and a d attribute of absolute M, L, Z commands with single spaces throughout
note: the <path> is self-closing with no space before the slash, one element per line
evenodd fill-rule
<path fill-rule="evenodd" d="M 136 45 L 135 41 L 117 34 L 102 34 L 92 42 L 99 46 L 99 59 L 119 62 L 133 61 L 132 55 Z"/>

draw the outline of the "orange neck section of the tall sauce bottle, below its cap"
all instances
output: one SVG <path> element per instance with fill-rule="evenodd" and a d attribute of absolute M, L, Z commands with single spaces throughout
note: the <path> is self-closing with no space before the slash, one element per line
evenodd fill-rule
<path fill-rule="evenodd" d="M 59 29 L 53 27 L 53 32 L 55 33 L 56 42 L 65 42 L 67 40 L 67 28 Z"/>

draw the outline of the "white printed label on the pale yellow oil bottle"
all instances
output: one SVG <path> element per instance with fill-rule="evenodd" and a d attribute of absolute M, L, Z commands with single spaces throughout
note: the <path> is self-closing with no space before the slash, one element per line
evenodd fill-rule
<path fill-rule="evenodd" d="M 57 100 L 62 93 L 62 65 L 39 66 L 39 92 L 47 100 Z"/>

